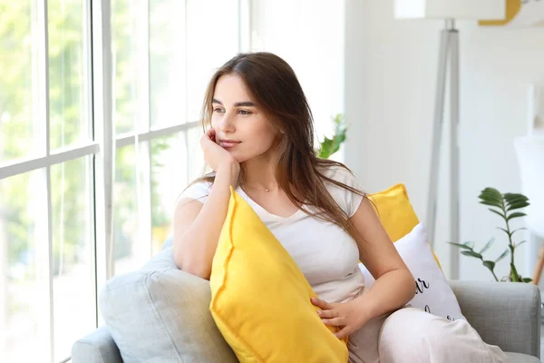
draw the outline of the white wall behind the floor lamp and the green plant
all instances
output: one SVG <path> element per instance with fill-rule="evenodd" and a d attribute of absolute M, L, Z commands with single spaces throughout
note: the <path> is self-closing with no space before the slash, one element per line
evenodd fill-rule
<path fill-rule="evenodd" d="M 443 24 L 394 20 L 393 0 L 346 0 L 345 13 L 345 113 L 352 123 L 345 162 L 368 191 L 403 182 L 420 220 L 425 221 Z M 478 195 L 487 186 L 520 191 L 512 142 L 526 132 L 527 86 L 544 82 L 544 28 L 484 28 L 474 22 L 457 26 L 461 31 L 461 241 L 474 240 L 483 246 L 496 236 L 485 254 L 493 259 L 507 241 L 496 229 L 500 218 L 478 203 Z M 442 168 L 435 251 L 450 276 L 446 172 Z M 527 276 L 526 248 L 517 251 L 516 264 Z M 461 280 L 492 279 L 480 261 L 464 256 L 460 260 Z M 496 272 L 501 277 L 508 271 L 505 259 Z"/>

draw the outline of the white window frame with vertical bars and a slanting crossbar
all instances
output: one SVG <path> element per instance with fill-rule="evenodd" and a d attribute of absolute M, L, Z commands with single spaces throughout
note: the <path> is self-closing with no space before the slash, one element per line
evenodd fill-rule
<path fill-rule="evenodd" d="M 53 362 L 54 326 L 53 326 L 53 226 L 52 226 L 52 192 L 51 192 L 51 168 L 53 165 L 69 162 L 74 159 L 91 158 L 90 181 L 91 188 L 91 215 L 92 222 L 92 264 L 94 266 L 94 298 L 95 327 L 102 325 L 103 320 L 98 310 L 99 290 L 107 280 L 114 275 L 113 250 L 113 183 L 114 183 L 114 158 L 117 149 L 128 145 L 135 145 L 137 152 L 145 154 L 147 162 L 141 167 L 145 182 L 138 188 L 138 202 L 142 210 L 138 218 L 143 223 L 142 238 L 149 240 L 147 248 L 142 249 L 142 258 L 150 258 L 152 254 L 151 244 L 151 141 L 163 136 L 174 135 L 180 132 L 189 132 L 199 127 L 199 121 L 187 120 L 163 127 L 151 125 L 150 111 L 150 1 L 142 0 L 145 9 L 139 16 L 143 26 L 141 34 L 147 44 L 142 51 L 144 69 L 147 70 L 143 77 L 144 99 L 141 103 L 141 124 L 133 132 L 116 135 L 113 125 L 113 93 L 112 93 L 112 2 L 111 0 L 83 0 L 83 68 L 85 80 L 88 83 L 86 112 L 89 117 L 88 141 L 78 142 L 59 150 L 51 150 L 50 145 L 50 113 L 49 113 L 49 32 L 48 32 L 48 1 L 36 0 L 37 22 L 33 28 L 33 36 L 36 37 L 37 57 L 35 64 L 37 69 L 38 95 L 33 107 L 36 111 L 33 115 L 34 140 L 39 142 L 40 155 L 27 158 L 10 160 L 0 163 L 0 180 L 26 172 L 40 172 L 40 177 L 46 185 L 46 202 L 44 214 L 47 219 L 36 225 L 36 229 L 47 236 L 47 244 L 37 244 L 38 260 L 38 297 L 44 303 L 39 308 L 38 329 L 41 332 L 38 342 L 42 357 L 50 357 Z M 184 2 L 187 9 L 189 0 Z M 251 49 L 251 8 L 252 0 L 238 0 L 238 52 Z M 187 11 L 185 26 L 187 26 Z M 187 36 L 187 32 L 186 32 Z M 185 55 L 187 57 L 187 55 Z M 188 72 L 185 64 L 185 74 Z M 187 94 L 188 83 L 184 84 Z M 187 156 L 188 157 L 188 156 Z M 40 224 L 40 223 L 38 223 Z M 144 246 L 142 246 L 144 247 Z M 42 273 L 43 272 L 43 273 Z M 73 337 L 74 341 L 80 337 Z M 71 358 L 57 360 L 69 361 Z"/>

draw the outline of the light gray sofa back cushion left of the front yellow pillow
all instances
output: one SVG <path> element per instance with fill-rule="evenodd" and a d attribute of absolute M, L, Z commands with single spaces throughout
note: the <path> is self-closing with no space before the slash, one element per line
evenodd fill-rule
<path fill-rule="evenodd" d="M 166 248 L 109 280 L 99 308 L 125 363 L 238 362 L 209 312 L 209 281 L 179 270 Z"/>

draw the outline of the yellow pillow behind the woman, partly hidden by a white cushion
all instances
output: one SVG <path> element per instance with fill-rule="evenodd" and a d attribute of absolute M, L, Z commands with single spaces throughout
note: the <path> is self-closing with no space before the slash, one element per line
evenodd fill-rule
<path fill-rule="evenodd" d="M 404 184 L 393 185 L 393 187 L 371 194 L 369 197 L 371 201 L 374 201 L 374 209 L 377 209 L 380 221 L 393 242 L 402 239 L 419 224 Z M 442 269 L 434 251 L 432 251 L 432 255 Z"/>

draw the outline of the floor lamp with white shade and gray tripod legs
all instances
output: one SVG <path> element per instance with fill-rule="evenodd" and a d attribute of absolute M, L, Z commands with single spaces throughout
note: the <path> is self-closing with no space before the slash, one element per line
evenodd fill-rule
<path fill-rule="evenodd" d="M 432 122 L 431 172 L 425 223 L 431 246 L 434 246 L 436 229 L 436 207 L 438 200 L 438 174 L 442 144 L 442 126 L 446 79 L 450 75 L 450 240 L 460 242 L 459 228 L 459 30 L 456 20 L 499 20 L 506 16 L 506 0 L 395 0 L 396 19 L 442 19 L 445 27 L 441 32 L 438 57 L 438 76 Z M 452 248 L 452 279 L 459 278 L 459 254 Z"/>

